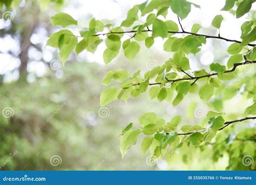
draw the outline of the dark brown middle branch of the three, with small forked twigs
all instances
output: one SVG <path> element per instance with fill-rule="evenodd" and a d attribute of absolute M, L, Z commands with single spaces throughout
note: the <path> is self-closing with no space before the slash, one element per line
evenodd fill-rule
<path fill-rule="evenodd" d="M 230 73 L 230 72 L 233 72 L 233 71 L 235 71 L 235 69 L 238 67 L 238 66 L 240 66 L 240 65 L 247 65 L 247 64 L 256 64 L 256 61 L 254 60 L 254 61 L 245 61 L 245 62 L 243 62 L 243 63 L 234 63 L 234 65 L 233 65 L 233 68 L 231 69 L 231 70 L 227 70 L 227 71 L 224 71 L 224 73 Z M 183 70 L 181 70 L 181 71 L 183 71 Z M 185 72 L 185 71 L 183 71 L 183 72 Z M 185 72 L 186 73 L 186 72 Z M 187 73 L 186 73 L 187 74 Z M 218 73 L 211 73 L 211 74 L 206 74 L 206 75 L 204 75 L 204 76 L 199 76 L 199 77 L 191 77 L 189 74 L 187 74 L 187 76 L 190 76 L 189 78 L 179 78 L 179 79 L 175 79 L 175 80 L 169 80 L 169 79 L 167 79 L 167 78 L 165 78 L 166 80 L 167 80 L 167 82 L 172 82 L 172 83 L 174 83 L 175 81 L 180 81 L 180 80 L 195 80 L 195 81 L 193 81 L 193 83 L 191 84 L 191 85 L 193 85 L 194 83 L 196 83 L 196 81 L 198 80 L 198 79 L 200 79 L 200 78 L 205 78 L 205 77 L 211 77 L 211 76 L 215 76 L 215 75 L 217 75 Z M 153 84 L 149 84 L 149 85 L 160 85 L 161 83 L 153 83 Z M 138 84 L 133 84 L 133 85 L 139 85 L 139 83 Z"/>

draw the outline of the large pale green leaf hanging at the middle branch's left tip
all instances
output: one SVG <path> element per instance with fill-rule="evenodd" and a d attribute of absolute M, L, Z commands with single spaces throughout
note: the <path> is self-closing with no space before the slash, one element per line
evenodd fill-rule
<path fill-rule="evenodd" d="M 109 87 L 100 94 L 100 106 L 105 106 L 117 99 L 117 87 Z"/>

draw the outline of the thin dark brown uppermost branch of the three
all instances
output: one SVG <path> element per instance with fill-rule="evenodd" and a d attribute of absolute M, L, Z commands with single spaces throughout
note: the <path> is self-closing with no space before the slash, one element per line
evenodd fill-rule
<path fill-rule="evenodd" d="M 99 33 L 96 35 L 92 35 L 92 36 L 105 36 L 105 35 L 109 35 L 109 34 L 123 34 L 123 33 L 136 33 L 136 30 L 131 30 L 131 31 L 120 31 L 120 32 L 108 32 L 108 33 Z M 147 30 L 142 30 L 142 32 L 152 32 L 152 30 L 147 29 Z M 220 37 L 220 36 L 209 36 L 209 35 L 203 35 L 203 34 L 198 34 L 198 33 L 192 33 L 192 32 L 188 32 L 188 31 L 168 31 L 169 33 L 185 33 L 185 34 L 189 34 L 189 35 L 194 35 L 194 36 L 203 36 L 205 38 L 215 38 L 215 39 L 221 39 L 221 40 L 226 40 L 227 42 L 234 42 L 234 43 L 242 43 L 239 40 L 232 40 L 232 39 L 227 39 L 224 37 Z M 256 44 L 247 44 L 248 46 L 256 46 Z"/>

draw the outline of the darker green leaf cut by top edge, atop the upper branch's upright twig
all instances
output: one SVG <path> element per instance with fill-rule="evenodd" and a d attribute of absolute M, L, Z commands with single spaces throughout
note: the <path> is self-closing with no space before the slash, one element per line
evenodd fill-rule
<path fill-rule="evenodd" d="M 191 3 L 186 0 L 170 0 L 170 3 L 172 11 L 181 19 L 186 18 L 191 11 Z"/>

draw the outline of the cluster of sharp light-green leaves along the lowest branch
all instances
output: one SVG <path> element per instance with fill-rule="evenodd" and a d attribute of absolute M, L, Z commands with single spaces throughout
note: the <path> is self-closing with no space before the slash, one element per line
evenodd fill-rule
<path fill-rule="evenodd" d="M 207 113 L 208 124 L 181 125 L 181 117 L 174 116 L 169 122 L 157 116 L 154 112 L 147 112 L 139 117 L 142 129 L 132 129 L 133 123 L 129 124 L 120 135 L 122 136 L 120 151 L 124 156 L 130 147 L 134 145 L 140 134 L 146 135 L 142 141 L 142 152 L 148 149 L 156 157 L 166 157 L 174 150 L 186 146 L 199 146 L 202 142 L 211 142 L 217 131 L 224 126 L 223 113 L 209 111 Z M 181 132 L 180 132 L 181 131 Z M 171 148 L 170 148 L 171 146 Z M 170 149 L 170 150 L 169 150 Z"/>

